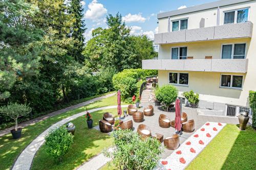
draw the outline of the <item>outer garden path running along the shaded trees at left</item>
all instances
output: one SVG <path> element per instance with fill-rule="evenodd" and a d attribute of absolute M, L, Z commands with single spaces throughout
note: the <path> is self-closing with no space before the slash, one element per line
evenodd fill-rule
<path fill-rule="evenodd" d="M 73 106 L 70 106 L 70 107 L 67 107 L 67 108 L 64 108 L 64 109 L 61 109 L 61 110 L 57 110 L 57 111 L 54 111 L 54 112 L 51 112 L 47 115 L 44 115 L 44 116 L 40 116 L 40 117 L 37 117 L 37 118 L 34 118 L 34 119 L 31 119 L 31 120 L 28 120 L 27 122 L 23 122 L 21 124 L 18 124 L 18 126 L 20 128 L 24 128 L 24 127 L 27 127 L 29 125 L 33 125 L 37 122 L 41 122 L 42 120 L 45 120 L 49 117 L 52 117 L 52 116 L 55 116 L 55 115 L 58 115 L 58 114 L 61 114 L 61 113 L 64 113 L 64 112 L 67 112 L 67 111 L 70 111 L 70 110 L 73 110 L 73 109 L 77 109 L 79 107 L 82 107 L 82 106 L 86 106 L 86 105 L 89 105 L 93 102 L 96 102 L 96 101 L 99 101 L 101 99 L 105 99 L 105 98 L 109 98 L 110 96 L 113 96 L 115 95 L 116 93 L 111 93 L 111 94 L 106 94 L 106 95 L 103 95 L 103 96 L 100 96 L 98 98 L 94 98 L 92 100 L 89 100 L 89 101 L 86 101 L 86 102 L 82 102 L 82 103 L 79 103 L 79 104 L 76 104 L 76 105 L 73 105 Z M 10 128 L 7 128 L 5 130 L 1 130 L 0 131 L 0 136 L 3 136 L 3 135 L 6 135 L 8 133 L 11 133 L 10 131 L 12 129 L 14 129 L 15 127 L 10 127 Z"/>

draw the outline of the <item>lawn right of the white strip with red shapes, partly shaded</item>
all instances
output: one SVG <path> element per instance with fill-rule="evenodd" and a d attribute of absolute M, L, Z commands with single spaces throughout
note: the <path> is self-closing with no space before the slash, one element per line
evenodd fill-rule
<path fill-rule="evenodd" d="M 226 125 L 186 169 L 255 169 L 256 131 Z"/>

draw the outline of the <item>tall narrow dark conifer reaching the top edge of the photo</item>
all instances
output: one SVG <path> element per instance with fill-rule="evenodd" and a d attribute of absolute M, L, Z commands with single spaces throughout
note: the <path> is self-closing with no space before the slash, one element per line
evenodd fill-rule
<path fill-rule="evenodd" d="M 75 41 L 70 55 L 74 56 L 75 60 L 80 63 L 84 62 L 84 56 L 82 55 L 84 49 L 83 34 L 87 30 L 83 19 L 82 1 L 83 0 L 71 0 L 69 7 L 69 12 L 73 14 L 75 18 L 73 27 L 71 28 L 71 37 L 73 37 Z"/>

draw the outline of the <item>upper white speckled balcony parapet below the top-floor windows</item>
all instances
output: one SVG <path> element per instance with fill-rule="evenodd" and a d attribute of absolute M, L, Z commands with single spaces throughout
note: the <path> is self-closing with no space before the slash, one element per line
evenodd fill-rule
<path fill-rule="evenodd" d="M 251 38 L 252 22 L 155 34 L 155 44 Z"/>

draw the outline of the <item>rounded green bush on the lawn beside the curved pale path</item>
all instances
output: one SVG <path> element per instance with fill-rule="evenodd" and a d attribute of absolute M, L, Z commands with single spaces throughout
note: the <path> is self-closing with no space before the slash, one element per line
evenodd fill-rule
<path fill-rule="evenodd" d="M 45 137 L 47 153 L 54 159 L 60 160 L 70 149 L 73 137 L 63 126 L 51 130 Z"/>

